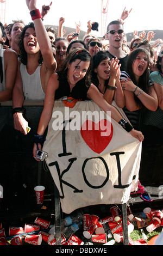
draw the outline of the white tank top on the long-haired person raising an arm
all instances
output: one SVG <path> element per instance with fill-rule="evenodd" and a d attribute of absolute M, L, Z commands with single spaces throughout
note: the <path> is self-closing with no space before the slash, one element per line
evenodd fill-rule
<path fill-rule="evenodd" d="M 44 100 L 45 98 L 45 93 L 42 90 L 40 68 L 41 65 L 37 67 L 32 75 L 29 75 L 26 65 L 20 65 L 25 100 Z"/>

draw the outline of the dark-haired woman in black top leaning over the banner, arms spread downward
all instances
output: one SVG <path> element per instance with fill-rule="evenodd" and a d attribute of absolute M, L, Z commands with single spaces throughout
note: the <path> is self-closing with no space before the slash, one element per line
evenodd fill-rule
<path fill-rule="evenodd" d="M 51 120 L 55 100 L 67 97 L 76 103 L 78 100 L 94 101 L 104 112 L 110 111 L 111 118 L 119 123 L 131 136 L 143 141 L 142 132 L 134 130 L 127 121 L 122 118 L 118 110 L 111 106 L 97 87 L 91 82 L 92 58 L 89 51 L 84 48 L 77 48 L 70 52 L 64 62 L 61 71 L 55 72 L 48 81 L 46 96 L 41 114 L 37 134 L 35 135 L 33 155 L 41 149 L 41 142 L 44 140 L 44 132 Z M 64 100 L 65 101 L 65 100 Z"/>

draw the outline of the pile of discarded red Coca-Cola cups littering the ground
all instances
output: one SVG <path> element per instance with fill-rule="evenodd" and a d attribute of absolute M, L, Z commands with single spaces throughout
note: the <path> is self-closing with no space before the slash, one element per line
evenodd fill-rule
<path fill-rule="evenodd" d="M 156 228 L 163 226 L 163 209 L 152 210 L 145 208 L 143 212 L 135 216 L 127 208 L 128 214 L 128 235 L 134 230 L 135 223 L 141 229 L 142 239 L 133 241 L 129 238 L 129 245 L 147 245 L 147 236 L 143 232 L 144 227 L 151 233 Z M 24 227 L 10 227 L 10 243 L 5 239 L 5 231 L 0 223 L 0 245 L 41 245 L 42 240 L 48 245 L 56 245 L 55 225 L 50 226 L 50 222 L 37 217 L 35 224 L 25 224 Z M 68 223 L 66 227 L 65 223 Z M 84 239 L 80 239 L 76 233 L 78 229 L 83 228 L 83 237 L 92 243 L 101 243 L 102 245 L 114 245 L 115 242 L 123 243 L 122 215 L 117 206 L 110 209 L 110 215 L 99 218 L 96 215 L 81 214 L 70 215 L 61 220 L 61 245 L 85 245 Z M 51 227 L 51 228 L 49 228 Z M 74 228 L 75 227 L 75 228 Z M 82 228 L 81 228 L 82 227 Z M 40 229 L 42 229 L 40 231 Z M 67 236 L 68 235 L 68 236 Z M 111 239 L 107 242 L 108 239 Z"/>

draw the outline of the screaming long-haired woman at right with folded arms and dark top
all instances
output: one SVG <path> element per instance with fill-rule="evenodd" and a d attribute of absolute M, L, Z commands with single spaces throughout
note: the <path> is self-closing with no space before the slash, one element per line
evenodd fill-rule
<path fill-rule="evenodd" d="M 126 99 L 124 112 L 135 129 L 140 129 L 142 109 L 156 111 L 158 97 L 149 80 L 149 54 L 137 48 L 129 54 L 127 70 L 121 72 L 121 86 Z"/>

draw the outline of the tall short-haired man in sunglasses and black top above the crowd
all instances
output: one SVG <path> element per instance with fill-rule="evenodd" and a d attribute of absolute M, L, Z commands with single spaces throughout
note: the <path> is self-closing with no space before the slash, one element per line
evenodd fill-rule
<path fill-rule="evenodd" d="M 118 58 L 121 64 L 121 71 L 126 70 L 128 54 L 122 50 L 124 38 L 123 24 L 121 21 L 111 21 L 107 27 L 107 38 L 109 40 L 109 57 Z"/>

